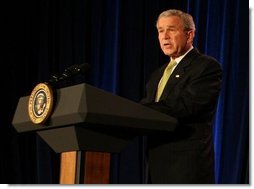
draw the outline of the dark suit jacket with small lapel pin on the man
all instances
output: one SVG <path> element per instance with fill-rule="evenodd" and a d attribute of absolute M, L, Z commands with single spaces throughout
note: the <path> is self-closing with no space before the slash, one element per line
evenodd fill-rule
<path fill-rule="evenodd" d="M 214 183 L 212 125 L 222 69 L 214 58 L 192 49 L 154 102 L 166 64 L 146 85 L 141 103 L 178 119 L 174 132 L 148 136 L 151 183 Z"/>

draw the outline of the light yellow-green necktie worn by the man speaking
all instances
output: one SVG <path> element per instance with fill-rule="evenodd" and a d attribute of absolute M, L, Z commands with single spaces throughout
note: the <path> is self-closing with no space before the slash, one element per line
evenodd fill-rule
<path fill-rule="evenodd" d="M 164 73 L 163 73 L 163 76 L 161 78 L 161 81 L 158 85 L 158 89 L 157 89 L 157 94 L 156 94 L 156 98 L 155 98 L 155 102 L 158 102 L 160 97 L 161 97 L 161 94 L 162 94 L 162 91 L 172 73 L 172 69 L 175 67 L 176 65 L 176 61 L 175 60 L 171 60 L 170 63 L 168 64 L 168 66 L 165 68 L 164 70 Z"/>

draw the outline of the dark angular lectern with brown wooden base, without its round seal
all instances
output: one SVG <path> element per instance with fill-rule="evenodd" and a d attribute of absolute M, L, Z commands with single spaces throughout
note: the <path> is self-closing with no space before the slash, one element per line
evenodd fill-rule
<path fill-rule="evenodd" d="M 57 89 L 47 124 L 28 116 L 19 99 L 12 121 L 18 133 L 37 133 L 61 153 L 60 184 L 110 183 L 110 155 L 147 132 L 173 131 L 177 120 L 128 99 L 81 83 Z"/>

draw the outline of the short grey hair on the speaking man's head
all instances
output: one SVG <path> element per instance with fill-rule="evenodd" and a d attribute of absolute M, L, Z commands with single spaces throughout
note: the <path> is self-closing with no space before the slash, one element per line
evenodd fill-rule
<path fill-rule="evenodd" d="M 189 30 L 194 30 L 195 31 L 195 23 L 193 21 L 193 18 L 190 14 L 185 13 L 183 11 L 180 10 L 176 10 L 176 9 L 169 9 L 166 11 L 163 11 L 159 16 L 158 19 L 156 21 L 156 26 L 158 24 L 158 20 L 161 17 L 169 17 L 169 16 L 178 16 L 182 22 L 183 22 L 183 28 L 185 31 L 189 31 Z"/>

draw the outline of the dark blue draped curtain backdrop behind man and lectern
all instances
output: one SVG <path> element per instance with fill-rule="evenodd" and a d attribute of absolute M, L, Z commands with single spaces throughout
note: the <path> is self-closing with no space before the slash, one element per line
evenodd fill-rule
<path fill-rule="evenodd" d="M 91 65 L 87 83 L 138 102 L 165 63 L 155 22 L 181 9 L 196 22 L 194 45 L 223 68 L 214 122 L 217 183 L 249 183 L 249 11 L 241 0 L 37 0 L 1 6 L 1 183 L 58 183 L 59 154 L 11 125 L 19 97 L 72 64 Z M 4 73 L 6 72 L 6 73 Z M 6 77 L 6 74 L 8 77 Z M 144 183 L 143 138 L 112 155 L 112 183 Z"/>

